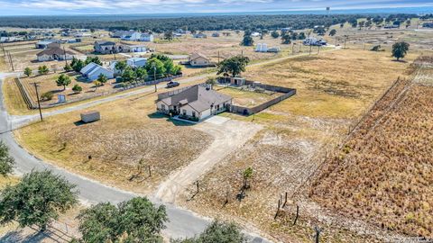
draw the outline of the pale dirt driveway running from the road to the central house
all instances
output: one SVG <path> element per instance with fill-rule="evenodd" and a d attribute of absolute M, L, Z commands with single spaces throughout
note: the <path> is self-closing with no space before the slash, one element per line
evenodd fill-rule
<path fill-rule="evenodd" d="M 174 171 L 159 186 L 154 193 L 155 197 L 163 202 L 176 202 L 176 196 L 182 190 L 185 190 L 189 184 L 193 184 L 200 175 L 204 175 L 213 166 L 216 166 L 224 157 L 234 152 L 237 148 L 241 148 L 262 128 L 262 126 L 257 124 L 229 120 L 220 116 L 215 116 L 199 123 L 194 129 L 207 132 L 214 137 L 214 141 L 188 166 Z"/>

